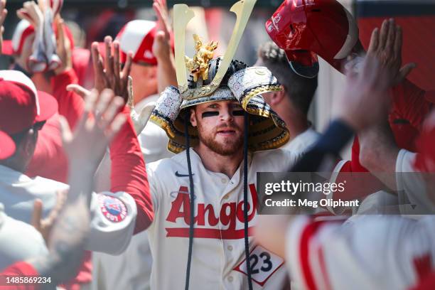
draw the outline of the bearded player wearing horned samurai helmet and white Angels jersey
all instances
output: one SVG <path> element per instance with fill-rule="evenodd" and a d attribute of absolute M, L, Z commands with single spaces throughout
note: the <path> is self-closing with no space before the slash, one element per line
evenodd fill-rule
<path fill-rule="evenodd" d="M 248 18 L 253 4 L 235 4 L 240 18 Z M 187 6 L 174 6 L 176 40 L 188 14 Z M 284 287 L 284 260 L 252 240 L 255 183 L 257 172 L 283 171 L 296 155 L 270 150 L 289 139 L 284 122 L 259 96 L 279 90 L 276 78 L 267 68 L 232 60 L 245 24 L 235 28 L 223 58 L 210 60 L 215 43 L 199 37 L 193 58 L 176 43 L 179 89 L 166 88 L 151 114 L 177 153 L 147 167 L 155 210 L 148 230 L 151 289 Z"/>

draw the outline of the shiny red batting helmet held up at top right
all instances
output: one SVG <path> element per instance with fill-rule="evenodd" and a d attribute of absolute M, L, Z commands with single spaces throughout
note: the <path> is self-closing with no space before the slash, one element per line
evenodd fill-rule
<path fill-rule="evenodd" d="M 320 55 L 338 70 L 358 42 L 355 19 L 335 0 L 284 0 L 266 31 L 289 61 L 310 66 Z"/>

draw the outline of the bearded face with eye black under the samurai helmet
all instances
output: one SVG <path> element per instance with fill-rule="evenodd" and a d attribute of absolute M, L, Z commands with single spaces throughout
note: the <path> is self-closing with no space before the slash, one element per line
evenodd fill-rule
<path fill-rule="evenodd" d="M 210 150 L 230 156 L 242 150 L 244 111 L 237 101 L 198 104 L 190 122 L 198 127 L 200 142 Z"/>

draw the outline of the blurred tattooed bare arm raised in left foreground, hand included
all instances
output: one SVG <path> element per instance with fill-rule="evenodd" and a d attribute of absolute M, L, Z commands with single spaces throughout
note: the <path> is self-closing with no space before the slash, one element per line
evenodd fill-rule
<path fill-rule="evenodd" d="M 110 90 L 105 90 L 100 96 L 93 91 L 85 100 L 85 111 L 74 133 L 65 118 L 60 119 L 63 144 L 70 163 L 70 190 L 63 209 L 52 220 L 54 224 L 50 232 L 45 232 L 49 254 L 27 261 L 39 276 L 50 276 L 54 284 L 75 276 L 82 262 L 90 231 L 93 175 L 107 145 L 125 122 L 126 117 L 118 114 L 122 104 L 122 98 L 114 97 Z M 88 142 L 92 146 L 88 146 Z M 35 208 L 34 217 L 40 217 L 41 206 Z M 38 224 L 39 219 L 34 218 L 33 223 L 35 220 Z M 41 230 L 40 226 L 36 228 Z"/>

